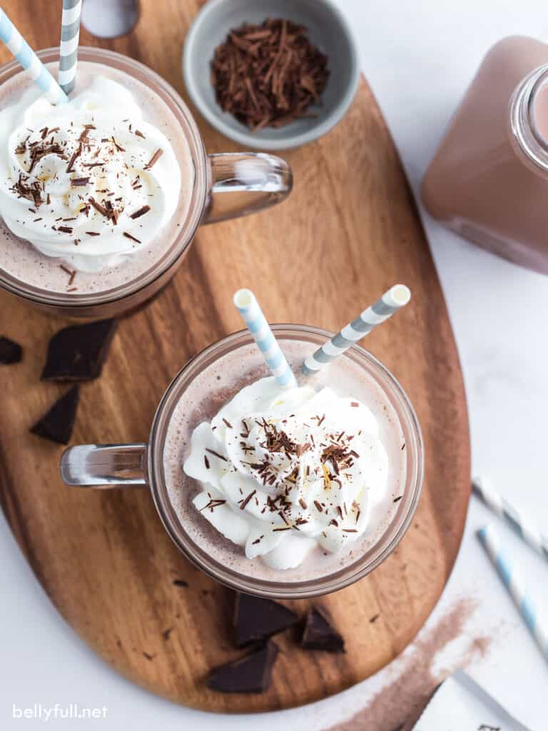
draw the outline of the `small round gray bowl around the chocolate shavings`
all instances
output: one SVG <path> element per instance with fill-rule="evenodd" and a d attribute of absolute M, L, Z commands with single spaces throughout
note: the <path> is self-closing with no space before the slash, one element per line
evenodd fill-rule
<path fill-rule="evenodd" d="M 306 26 L 311 42 L 329 56 L 330 78 L 321 105 L 309 108 L 313 118 L 250 132 L 217 104 L 210 61 L 230 29 L 242 23 L 262 23 L 266 18 L 287 18 Z M 337 124 L 356 94 L 359 62 L 351 29 L 329 0 L 210 0 L 186 36 L 183 77 L 192 101 L 219 132 L 247 148 L 283 150 L 316 140 Z"/>

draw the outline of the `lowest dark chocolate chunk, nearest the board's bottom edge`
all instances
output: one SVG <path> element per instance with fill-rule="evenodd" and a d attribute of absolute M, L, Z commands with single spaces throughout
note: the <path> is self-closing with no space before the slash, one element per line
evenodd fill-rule
<path fill-rule="evenodd" d="M 277 656 L 278 646 L 268 642 L 262 648 L 212 670 L 208 688 L 221 693 L 263 693 L 270 687 Z"/>

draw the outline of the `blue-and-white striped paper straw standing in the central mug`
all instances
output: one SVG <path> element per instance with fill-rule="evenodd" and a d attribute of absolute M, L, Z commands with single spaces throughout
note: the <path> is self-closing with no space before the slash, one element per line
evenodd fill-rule
<path fill-rule="evenodd" d="M 270 330 L 270 325 L 265 315 L 262 314 L 262 309 L 251 289 L 238 289 L 233 301 L 237 311 L 243 317 L 243 322 L 246 323 L 254 341 L 259 346 L 259 350 L 265 356 L 267 365 L 278 384 L 288 387 L 297 386 L 294 373 L 289 368 L 289 363 L 281 352 L 278 341 L 274 337 L 273 331 Z"/>

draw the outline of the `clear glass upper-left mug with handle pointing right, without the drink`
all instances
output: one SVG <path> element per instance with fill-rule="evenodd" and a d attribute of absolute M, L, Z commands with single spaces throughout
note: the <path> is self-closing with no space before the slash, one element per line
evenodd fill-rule
<path fill-rule="evenodd" d="M 38 53 L 45 63 L 58 62 L 58 48 Z M 132 281 L 103 292 L 78 294 L 48 292 L 33 287 L 0 269 L 0 287 L 42 311 L 69 317 L 113 317 L 134 308 L 164 287 L 178 270 L 201 223 L 213 223 L 254 213 L 284 200 L 292 190 L 292 171 L 281 158 L 263 153 L 208 155 L 189 108 L 170 84 L 156 72 L 102 48 L 79 48 L 80 61 L 104 64 L 125 72 L 148 86 L 167 105 L 189 143 L 194 164 L 194 186 L 189 211 L 172 233 L 172 241 L 151 268 Z M 23 74 L 17 61 L 0 67 L 0 85 Z M 175 214 L 176 215 L 176 214 Z"/>

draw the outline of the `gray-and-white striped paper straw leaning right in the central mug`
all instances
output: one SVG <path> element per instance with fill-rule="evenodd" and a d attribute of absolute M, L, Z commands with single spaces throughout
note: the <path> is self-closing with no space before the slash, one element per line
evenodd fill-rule
<path fill-rule="evenodd" d="M 326 363 L 331 363 L 341 353 L 348 350 L 354 343 L 368 335 L 373 327 L 376 327 L 384 320 L 397 312 L 411 299 L 411 292 L 405 284 L 395 284 L 394 287 L 384 292 L 381 299 L 362 312 L 353 322 L 343 327 L 330 341 L 324 343 L 315 353 L 309 355 L 302 363 L 302 373 L 311 376 L 323 368 Z"/>

